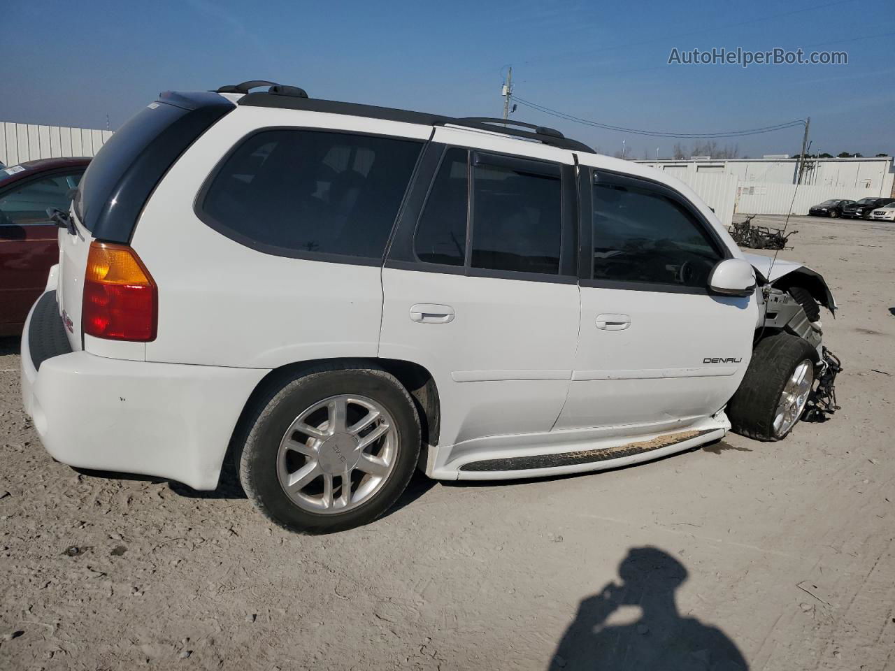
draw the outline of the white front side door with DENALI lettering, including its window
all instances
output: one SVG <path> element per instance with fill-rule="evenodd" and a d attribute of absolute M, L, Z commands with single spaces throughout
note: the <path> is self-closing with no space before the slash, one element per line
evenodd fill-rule
<path fill-rule="evenodd" d="M 730 256 L 688 200 L 582 169 L 581 335 L 558 429 L 648 433 L 717 412 L 752 352 L 754 296 L 708 293 Z"/>

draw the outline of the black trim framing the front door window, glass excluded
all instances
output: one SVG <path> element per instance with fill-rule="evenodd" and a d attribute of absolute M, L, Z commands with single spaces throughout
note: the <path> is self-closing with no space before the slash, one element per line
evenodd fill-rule
<path fill-rule="evenodd" d="M 584 167 L 584 166 L 582 166 Z M 648 177 L 639 175 L 620 173 L 614 170 L 605 170 L 599 167 L 586 166 L 586 170 L 580 171 L 578 175 L 578 188 L 581 191 L 581 208 L 579 210 L 579 223 L 581 226 L 581 262 L 579 264 L 578 284 L 592 289 L 618 289 L 624 291 L 638 291 L 650 293 L 689 293 L 697 295 L 714 295 L 708 285 L 702 286 L 681 286 L 681 285 L 665 285 L 659 282 L 625 282 L 621 280 L 603 280 L 593 279 L 593 212 L 592 212 L 592 192 L 593 186 L 597 183 L 599 177 L 600 183 L 614 183 L 619 185 L 633 186 L 637 189 L 645 189 L 654 191 L 665 196 L 669 200 L 674 201 L 681 208 L 693 217 L 696 225 L 699 225 L 703 233 L 707 235 L 712 243 L 715 251 L 720 255 L 719 263 L 725 259 L 733 259 L 733 253 L 728 245 L 721 239 L 714 226 L 712 226 L 705 218 L 702 212 L 696 208 L 686 196 L 680 191 L 670 187 L 668 184 L 651 180 Z M 585 188 L 586 187 L 586 188 Z"/>

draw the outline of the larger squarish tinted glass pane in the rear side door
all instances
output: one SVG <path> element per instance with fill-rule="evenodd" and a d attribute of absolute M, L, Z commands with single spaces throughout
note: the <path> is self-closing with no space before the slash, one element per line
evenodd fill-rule
<path fill-rule="evenodd" d="M 479 165 L 473 171 L 473 268 L 559 274 L 559 175 Z"/>

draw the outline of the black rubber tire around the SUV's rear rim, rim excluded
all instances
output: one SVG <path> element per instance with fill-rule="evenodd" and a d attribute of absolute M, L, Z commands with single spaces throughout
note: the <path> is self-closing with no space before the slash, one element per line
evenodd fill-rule
<path fill-rule="evenodd" d="M 330 396 L 364 395 L 394 418 L 398 441 L 393 471 L 379 490 L 340 514 L 314 514 L 286 496 L 277 478 L 277 451 L 286 429 L 304 409 Z M 372 522 L 404 492 L 420 454 L 420 420 L 404 386 L 384 369 L 366 363 L 325 364 L 281 379 L 247 409 L 234 436 L 234 461 L 245 494 L 271 522 L 300 533 L 345 531 Z"/>

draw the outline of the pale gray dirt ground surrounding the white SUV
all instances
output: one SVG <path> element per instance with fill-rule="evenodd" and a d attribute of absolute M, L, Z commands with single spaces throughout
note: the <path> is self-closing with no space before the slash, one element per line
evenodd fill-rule
<path fill-rule="evenodd" d="M 698 623 L 754 671 L 895 668 L 895 226 L 790 228 L 781 256 L 840 302 L 833 420 L 570 478 L 418 478 L 328 537 L 271 528 L 232 481 L 202 495 L 54 463 L 0 341 L 0 668 L 662 668 L 644 655 Z M 704 645 L 672 651 L 722 668 Z"/>

